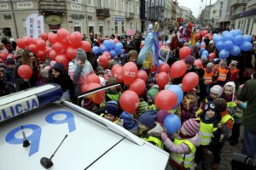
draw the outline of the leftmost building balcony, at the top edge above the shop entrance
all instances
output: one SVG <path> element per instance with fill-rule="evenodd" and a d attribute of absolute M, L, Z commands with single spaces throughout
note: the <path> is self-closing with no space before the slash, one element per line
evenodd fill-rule
<path fill-rule="evenodd" d="M 66 13 L 65 0 L 41 0 L 39 1 L 39 11 L 45 13 Z"/>

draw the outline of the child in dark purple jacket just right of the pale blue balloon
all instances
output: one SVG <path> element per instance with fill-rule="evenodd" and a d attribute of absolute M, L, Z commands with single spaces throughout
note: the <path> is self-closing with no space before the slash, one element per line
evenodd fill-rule
<path fill-rule="evenodd" d="M 183 98 L 181 105 L 181 122 L 190 118 L 195 118 L 195 112 L 198 110 L 196 89 L 193 88 Z"/>

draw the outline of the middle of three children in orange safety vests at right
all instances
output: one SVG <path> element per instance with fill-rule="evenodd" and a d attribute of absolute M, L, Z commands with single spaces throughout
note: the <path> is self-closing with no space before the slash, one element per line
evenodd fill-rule
<path fill-rule="evenodd" d="M 219 62 L 219 66 L 216 65 L 215 68 L 218 71 L 218 82 L 217 83 L 218 83 L 218 85 L 223 87 L 224 84 L 227 82 L 227 77 L 228 77 L 228 73 L 229 73 L 228 65 L 227 65 L 226 61 L 221 60 Z"/>

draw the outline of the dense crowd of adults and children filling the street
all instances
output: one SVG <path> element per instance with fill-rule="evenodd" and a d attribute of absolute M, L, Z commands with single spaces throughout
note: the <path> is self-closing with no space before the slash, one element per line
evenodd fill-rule
<path fill-rule="evenodd" d="M 100 46 L 104 41 L 103 37 L 94 37 L 92 33 L 90 37 L 84 35 L 83 38 L 90 41 L 91 46 Z M 16 49 L 15 45 L 7 47 L 6 41 L 1 42 L 0 53 L 8 53 L 8 57 L 5 60 L 0 59 L 0 96 L 54 82 L 61 86 L 62 98 L 73 101 L 74 96 L 82 94 L 83 84 L 90 74 L 96 74 L 101 85 L 105 86 L 119 82 L 113 76 L 113 65 L 133 62 L 138 69 L 142 68 L 137 63 L 143 40 L 141 36 L 126 36 L 121 39 L 113 35 L 105 38 L 119 39 L 125 49 L 125 54 L 109 59 L 106 68 L 97 60 L 100 54 L 85 53 L 83 48 L 78 48 L 75 59 L 67 68 L 50 61 L 49 58 L 39 60 L 28 49 Z M 188 42 L 176 46 L 173 41 L 166 42 L 165 38 L 159 37 L 159 41 L 163 42 L 165 48 L 170 49 L 172 57 L 166 60 L 170 66 L 179 60 L 179 49 L 189 47 Z M 185 92 L 181 104 L 171 111 L 159 110 L 154 103 L 155 96 L 162 90 L 156 80 L 157 71 L 148 72 L 146 89 L 139 95 L 139 105 L 133 113 L 122 111 L 119 105 L 119 98 L 129 85 L 109 88 L 102 104 L 84 98 L 81 106 L 90 111 L 96 111 L 103 106 L 101 116 L 170 152 L 170 163 L 178 169 L 204 166 L 205 157 L 210 155 L 213 156 L 211 168 L 218 169 L 224 142 L 239 142 L 241 124 L 245 129 L 242 153 L 253 157 L 256 152 L 255 39 L 252 41 L 253 50 L 241 52 L 238 57 L 230 56 L 228 59 L 218 59 L 218 49 L 212 40 L 203 38 L 200 41 L 206 42 L 207 50 L 215 53 L 216 58 L 201 59 L 202 65 L 195 65 L 195 59 L 200 58 L 200 49 L 193 48 L 191 54 L 183 59 L 187 66 L 186 73 L 195 72 L 199 83 L 196 88 Z M 31 66 L 30 79 L 20 77 L 20 65 Z M 172 84 L 181 87 L 181 82 L 182 77 L 170 78 L 165 89 Z M 165 118 L 170 114 L 177 115 L 182 123 L 177 133 L 168 133 L 164 126 Z"/>

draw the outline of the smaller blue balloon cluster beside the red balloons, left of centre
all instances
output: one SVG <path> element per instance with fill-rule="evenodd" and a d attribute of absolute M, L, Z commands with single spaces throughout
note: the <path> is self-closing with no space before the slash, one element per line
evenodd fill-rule
<path fill-rule="evenodd" d="M 104 54 L 104 52 L 108 52 L 112 58 L 115 58 L 117 55 L 123 54 L 125 52 L 123 48 L 123 44 L 115 38 L 113 40 L 105 40 L 101 47 L 94 46 L 92 48 L 92 52 L 94 54 Z"/>

